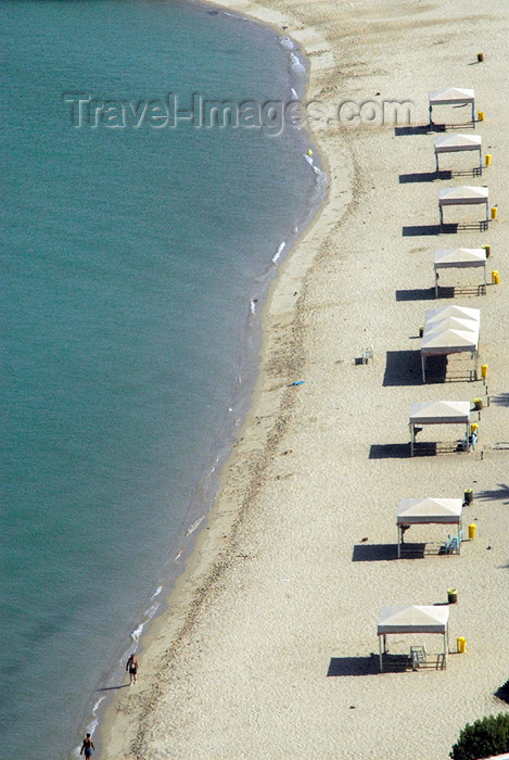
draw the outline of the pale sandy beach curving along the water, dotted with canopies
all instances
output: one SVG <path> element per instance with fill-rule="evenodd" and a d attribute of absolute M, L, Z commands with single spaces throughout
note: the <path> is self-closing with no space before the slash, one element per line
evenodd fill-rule
<path fill-rule="evenodd" d="M 251 413 L 188 569 L 142 642 L 139 681 L 107 709 L 100 757 L 445 760 L 467 722 L 509 710 L 494 696 L 509 679 L 509 11 L 494 0 L 222 4 L 300 43 L 307 100 L 326 116 L 344 101 L 406 101 L 424 125 L 430 91 L 474 88 L 485 113 L 474 134 L 493 163 L 482 177 L 433 178 L 435 134 L 391 119 L 310 125 L 328 200 L 271 288 Z M 463 183 L 488 186 L 497 219 L 424 235 L 438 189 Z M 435 300 L 433 252 L 485 244 L 500 284 Z M 479 281 L 448 271 L 442 283 Z M 481 309 L 486 387 L 458 359 L 444 382 L 422 383 L 419 326 L 451 303 Z M 371 344 L 373 362 L 356 363 Z M 409 457 L 412 402 L 474 397 L 489 397 L 474 452 Z M 440 426 L 418 440 L 462 434 Z M 394 559 L 400 498 L 466 489 L 463 531 L 475 523 L 476 537 L 461 556 Z M 436 535 L 447 527 L 408 540 Z M 380 608 L 443 604 L 450 587 L 447 669 L 380 674 Z M 408 651 L 406 638 L 394 650 Z"/>

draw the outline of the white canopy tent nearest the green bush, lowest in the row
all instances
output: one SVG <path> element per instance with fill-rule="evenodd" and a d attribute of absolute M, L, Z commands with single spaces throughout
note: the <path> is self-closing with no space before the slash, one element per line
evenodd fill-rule
<path fill-rule="evenodd" d="M 380 672 L 383 672 L 383 655 L 387 651 L 386 637 L 391 633 L 437 633 L 444 637 L 444 660 L 447 664 L 449 639 L 449 608 L 447 606 L 382 607 L 377 625 L 379 636 Z M 383 649 L 382 649 L 383 638 Z"/>

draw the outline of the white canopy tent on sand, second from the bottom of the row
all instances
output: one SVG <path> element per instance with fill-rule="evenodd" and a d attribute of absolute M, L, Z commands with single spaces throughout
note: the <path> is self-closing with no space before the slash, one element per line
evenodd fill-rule
<path fill-rule="evenodd" d="M 397 556 L 402 556 L 403 534 L 407 525 L 432 523 L 458 527 L 458 554 L 461 546 L 460 498 L 402 498 L 397 505 Z"/>

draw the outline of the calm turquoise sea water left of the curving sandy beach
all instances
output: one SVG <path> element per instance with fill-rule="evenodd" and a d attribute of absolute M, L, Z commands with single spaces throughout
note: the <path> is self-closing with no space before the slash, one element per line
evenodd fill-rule
<path fill-rule="evenodd" d="M 64 758 L 182 569 L 254 377 L 251 299 L 322 178 L 296 129 L 72 124 L 68 93 L 288 101 L 303 67 L 269 29 L 16 0 L 0 38 L 0 756 Z"/>

